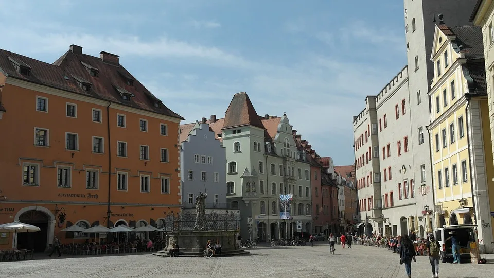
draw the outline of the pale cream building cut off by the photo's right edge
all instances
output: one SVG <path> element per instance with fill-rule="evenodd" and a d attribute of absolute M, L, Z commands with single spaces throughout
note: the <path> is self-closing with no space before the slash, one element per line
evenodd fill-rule
<path fill-rule="evenodd" d="M 484 57 L 485 57 L 485 76 L 487 80 L 487 96 L 489 103 L 489 115 L 494 114 L 494 1 L 478 0 L 475 8 L 470 16 L 470 22 L 482 28 L 482 38 L 484 42 Z M 494 138 L 494 119 L 490 119 L 490 134 L 491 146 Z M 486 145 L 486 151 L 489 149 Z M 494 152 L 494 148 L 492 149 Z M 494 172 L 486 177 L 487 180 L 494 179 Z M 488 187 L 488 194 L 493 196 L 489 198 L 489 207 L 494 210 L 494 188 L 492 185 Z M 492 227 L 492 223 L 490 223 Z M 484 224 L 485 226 L 485 224 Z M 488 229 L 488 228 L 485 228 Z M 493 227 L 494 229 L 494 227 Z M 485 241 L 485 240 L 484 240 Z M 486 241 L 489 242 L 489 241 Z"/>

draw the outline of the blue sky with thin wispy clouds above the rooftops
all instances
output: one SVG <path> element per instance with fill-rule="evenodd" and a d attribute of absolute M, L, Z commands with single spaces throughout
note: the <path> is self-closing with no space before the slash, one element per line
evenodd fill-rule
<path fill-rule="evenodd" d="M 34 3 L 34 4 L 33 4 Z M 0 0 L 0 48 L 45 62 L 104 50 L 190 123 L 246 91 L 351 164 L 352 116 L 406 63 L 403 2 Z"/>

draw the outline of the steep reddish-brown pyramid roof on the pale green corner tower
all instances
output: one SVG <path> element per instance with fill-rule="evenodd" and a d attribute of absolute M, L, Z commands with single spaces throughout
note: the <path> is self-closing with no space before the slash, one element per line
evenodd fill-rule
<path fill-rule="evenodd" d="M 241 126 L 254 126 L 264 129 L 249 96 L 245 92 L 236 93 L 233 96 L 228 109 L 226 109 L 223 129 Z"/>

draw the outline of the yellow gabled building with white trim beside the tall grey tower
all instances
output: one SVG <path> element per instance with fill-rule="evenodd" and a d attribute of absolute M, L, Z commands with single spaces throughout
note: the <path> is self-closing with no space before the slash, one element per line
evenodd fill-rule
<path fill-rule="evenodd" d="M 494 182 L 487 173 L 494 165 L 481 28 L 448 27 L 441 17 L 431 60 L 428 130 L 436 227 L 477 224 L 479 238 L 491 242 L 487 188 Z"/>

